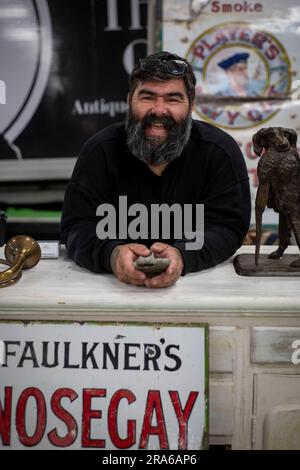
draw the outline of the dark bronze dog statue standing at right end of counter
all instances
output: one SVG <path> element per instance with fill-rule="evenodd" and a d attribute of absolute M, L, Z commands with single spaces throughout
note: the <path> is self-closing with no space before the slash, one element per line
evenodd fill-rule
<path fill-rule="evenodd" d="M 291 230 L 300 249 L 300 157 L 293 129 L 263 128 L 253 136 L 252 142 L 254 152 L 261 157 L 257 165 L 259 185 L 255 200 L 255 264 L 258 265 L 262 214 L 266 206 L 279 212 L 279 247 L 269 258 L 282 257 Z M 290 266 L 299 268 L 300 258 Z"/>

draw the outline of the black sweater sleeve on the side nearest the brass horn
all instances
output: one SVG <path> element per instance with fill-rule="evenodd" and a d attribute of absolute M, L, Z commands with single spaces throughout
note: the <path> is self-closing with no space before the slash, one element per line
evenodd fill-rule
<path fill-rule="evenodd" d="M 67 186 L 62 219 L 61 239 L 68 256 L 79 266 L 98 273 L 111 273 L 110 255 L 122 240 L 97 237 L 97 207 L 112 202 L 112 188 L 104 151 L 86 145 L 76 162 Z"/>

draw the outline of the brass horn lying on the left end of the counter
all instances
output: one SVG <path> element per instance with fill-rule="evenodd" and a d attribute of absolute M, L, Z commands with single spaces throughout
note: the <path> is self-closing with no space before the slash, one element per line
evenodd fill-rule
<path fill-rule="evenodd" d="M 0 287 L 14 284 L 22 276 L 22 269 L 33 268 L 41 259 L 41 248 L 37 241 L 27 235 L 17 235 L 5 245 L 5 260 L 2 264 L 10 266 L 0 272 Z"/>

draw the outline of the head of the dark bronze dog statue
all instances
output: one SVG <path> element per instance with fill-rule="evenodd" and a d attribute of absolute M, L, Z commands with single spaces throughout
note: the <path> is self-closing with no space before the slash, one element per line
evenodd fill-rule
<path fill-rule="evenodd" d="M 252 137 L 253 150 L 260 157 L 263 148 L 273 147 L 278 152 L 286 152 L 296 148 L 297 134 L 293 129 L 285 127 L 263 127 Z"/>

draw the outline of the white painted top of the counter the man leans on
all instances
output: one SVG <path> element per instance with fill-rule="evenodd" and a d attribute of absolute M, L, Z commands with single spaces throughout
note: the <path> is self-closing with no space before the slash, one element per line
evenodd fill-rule
<path fill-rule="evenodd" d="M 268 252 L 272 247 L 262 247 Z M 254 250 L 243 247 L 238 253 Z M 297 253 L 297 247 L 290 247 Z M 0 254 L 1 257 L 1 254 Z M 2 256 L 3 257 L 3 256 Z M 16 285 L 0 290 L 1 318 L 99 319 L 141 316 L 164 320 L 184 315 L 300 314 L 300 278 L 244 277 L 232 263 L 181 277 L 165 289 L 123 284 L 113 275 L 93 274 L 62 257 L 42 260 Z"/>

